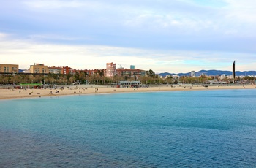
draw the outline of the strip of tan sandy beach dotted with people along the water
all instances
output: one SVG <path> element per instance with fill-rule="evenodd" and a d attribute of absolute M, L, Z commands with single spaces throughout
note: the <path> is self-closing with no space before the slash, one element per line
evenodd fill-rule
<path fill-rule="evenodd" d="M 149 88 L 113 88 L 102 85 L 65 86 L 64 89 L 0 89 L 0 101 L 57 96 L 79 96 L 104 93 L 138 93 L 156 91 L 206 91 L 222 89 L 255 89 L 255 85 L 158 85 Z"/>

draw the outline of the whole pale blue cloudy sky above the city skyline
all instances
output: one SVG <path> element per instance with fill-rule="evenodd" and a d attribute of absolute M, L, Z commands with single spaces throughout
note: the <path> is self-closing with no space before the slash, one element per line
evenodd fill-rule
<path fill-rule="evenodd" d="M 0 64 L 256 70 L 255 0 L 0 0 Z"/>

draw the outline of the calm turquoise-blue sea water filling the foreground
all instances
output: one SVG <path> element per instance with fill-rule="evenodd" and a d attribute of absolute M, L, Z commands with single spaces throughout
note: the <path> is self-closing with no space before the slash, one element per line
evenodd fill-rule
<path fill-rule="evenodd" d="M 256 90 L 0 101 L 0 167 L 256 167 Z"/>

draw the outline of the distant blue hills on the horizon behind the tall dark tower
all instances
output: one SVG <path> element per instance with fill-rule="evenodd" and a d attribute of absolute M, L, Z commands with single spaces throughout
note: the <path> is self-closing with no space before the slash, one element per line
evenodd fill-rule
<path fill-rule="evenodd" d="M 200 75 L 208 75 L 208 76 L 211 76 L 211 75 L 232 75 L 232 71 L 221 71 L 221 70 L 200 70 L 198 72 L 195 72 L 195 75 L 196 76 L 200 76 Z M 166 75 L 178 75 L 178 76 L 190 76 L 191 73 L 190 72 L 187 72 L 187 73 L 178 73 L 178 74 L 175 74 L 175 73 L 169 73 L 169 72 L 164 72 L 164 73 L 160 73 L 158 74 L 162 77 L 165 77 Z M 240 75 L 256 75 L 256 71 L 244 71 L 244 72 L 241 72 L 241 71 L 236 71 L 236 76 L 240 76 Z"/>

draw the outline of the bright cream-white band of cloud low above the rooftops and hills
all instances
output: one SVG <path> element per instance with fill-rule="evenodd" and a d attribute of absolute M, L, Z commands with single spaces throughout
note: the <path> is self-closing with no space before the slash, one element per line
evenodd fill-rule
<path fill-rule="evenodd" d="M 153 69 L 155 72 L 190 72 L 224 69 L 234 59 L 244 64 L 245 60 L 254 58 L 254 55 L 247 54 L 241 59 L 241 55 L 237 53 L 142 50 L 105 45 L 56 45 L 16 39 L 0 40 L 0 47 L 1 63 L 20 64 L 22 69 L 29 69 L 29 65 L 34 63 L 71 66 L 74 69 L 105 69 L 106 63 L 115 62 L 125 68 L 135 65 L 138 69 Z M 246 69 L 245 64 L 243 66 Z"/>

